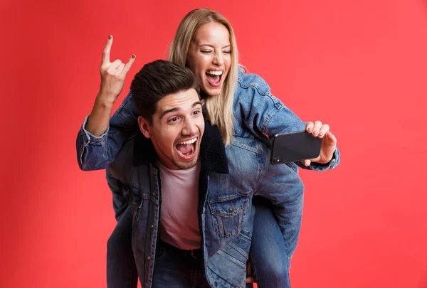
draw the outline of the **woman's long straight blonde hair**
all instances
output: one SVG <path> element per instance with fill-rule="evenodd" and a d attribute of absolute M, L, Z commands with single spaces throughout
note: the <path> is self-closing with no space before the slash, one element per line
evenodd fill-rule
<path fill-rule="evenodd" d="M 238 78 L 238 51 L 230 22 L 224 16 L 211 9 L 204 8 L 190 11 L 179 23 L 176 30 L 174 41 L 169 50 L 169 61 L 185 66 L 190 43 L 194 40 L 194 34 L 200 26 L 209 22 L 223 24 L 228 33 L 230 33 L 231 67 L 219 95 L 205 97 L 204 104 L 211 123 L 218 126 L 224 144 L 231 144 L 233 139 L 233 95 Z"/>

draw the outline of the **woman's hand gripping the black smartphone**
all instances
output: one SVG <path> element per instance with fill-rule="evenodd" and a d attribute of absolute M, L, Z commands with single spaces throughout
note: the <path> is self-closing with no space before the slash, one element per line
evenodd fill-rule
<path fill-rule="evenodd" d="M 313 137 L 322 139 L 322 148 L 320 149 L 320 156 L 315 159 L 303 160 L 302 164 L 310 166 L 311 162 L 326 164 L 331 161 L 334 156 L 334 151 L 337 148 L 337 138 L 330 132 L 328 124 L 322 124 L 320 121 L 307 122 L 305 131 L 312 134 Z"/>

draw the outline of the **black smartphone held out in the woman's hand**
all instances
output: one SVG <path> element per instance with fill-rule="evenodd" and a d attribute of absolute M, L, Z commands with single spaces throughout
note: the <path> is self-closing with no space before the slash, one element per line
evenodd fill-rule
<path fill-rule="evenodd" d="M 321 147 L 322 139 L 305 131 L 275 134 L 270 163 L 276 165 L 317 158 Z"/>

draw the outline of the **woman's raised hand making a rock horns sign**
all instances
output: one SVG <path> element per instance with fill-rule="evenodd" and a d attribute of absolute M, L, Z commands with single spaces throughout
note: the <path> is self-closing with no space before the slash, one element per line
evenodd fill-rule
<path fill-rule="evenodd" d="M 110 62 L 110 51 L 112 46 L 112 35 L 108 36 L 107 44 L 102 51 L 102 61 L 100 67 L 101 85 L 98 97 L 108 104 L 113 104 L 125 85 L 127 72 L 132 67 L 135 61 L 135 54 L 132 55 L 129 61 L 125 64 L 117 59 Z"/>

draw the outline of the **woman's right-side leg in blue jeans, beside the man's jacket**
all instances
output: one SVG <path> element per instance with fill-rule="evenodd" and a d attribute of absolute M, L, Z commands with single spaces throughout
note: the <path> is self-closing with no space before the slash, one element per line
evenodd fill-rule
<path fill-rule="evenodd" d="M 255 218 L 250 255 L 258 288 L 289 288 L 288 256 L 273 206 L 260 197 L 253 198 L 253 205 Z"/>

